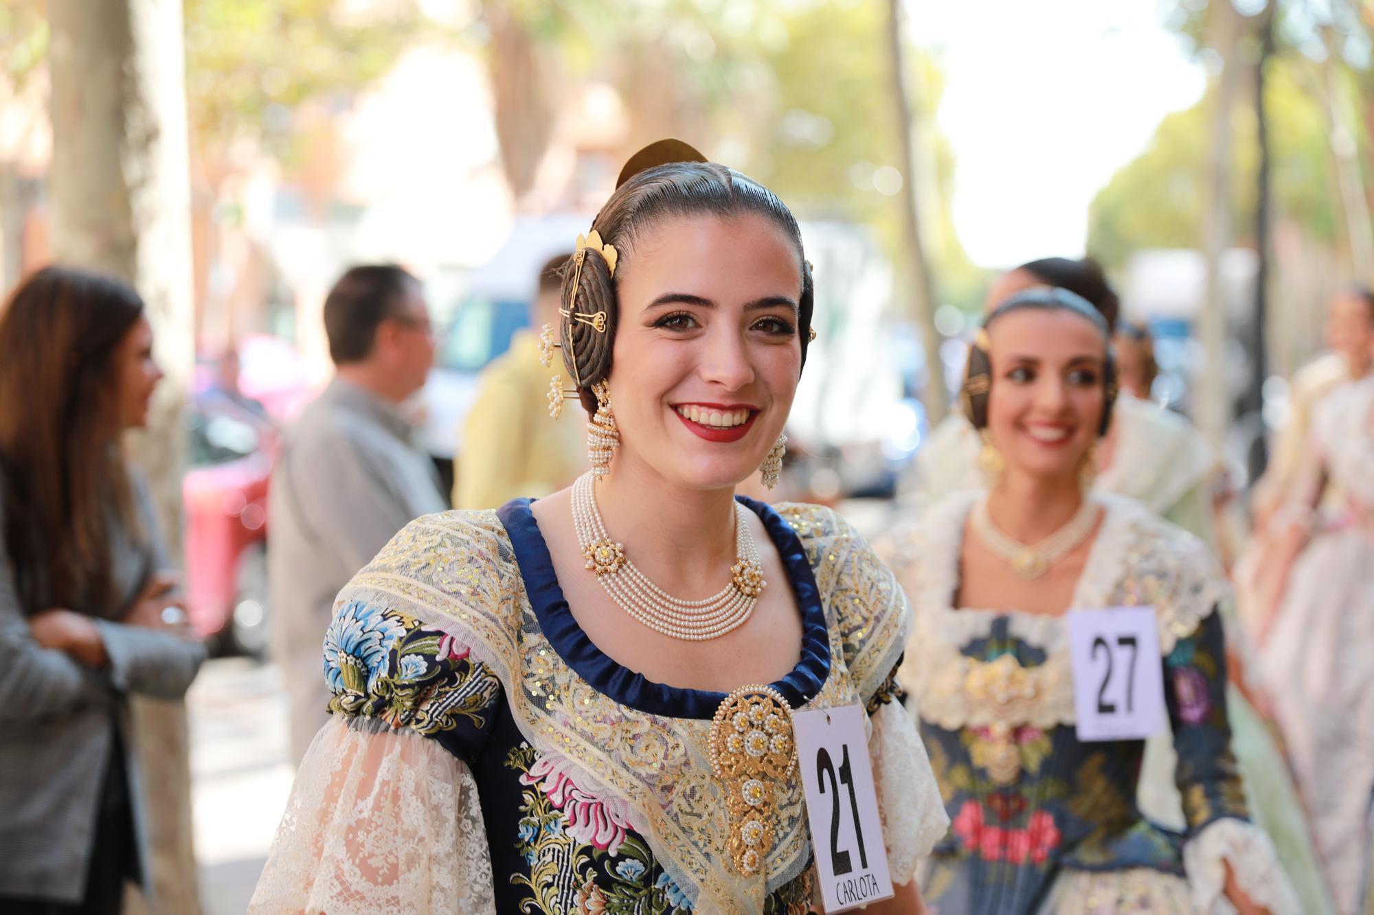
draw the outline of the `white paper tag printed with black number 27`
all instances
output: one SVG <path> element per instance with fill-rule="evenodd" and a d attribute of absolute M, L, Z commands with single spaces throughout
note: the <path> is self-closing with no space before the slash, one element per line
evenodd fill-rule
<path fill-rule="evenodd" d="M 1143 741 L 1164 724 L 1164 664 L 1153 607 L 1068 615 L 1073 706 L 1084 742 Z"/>

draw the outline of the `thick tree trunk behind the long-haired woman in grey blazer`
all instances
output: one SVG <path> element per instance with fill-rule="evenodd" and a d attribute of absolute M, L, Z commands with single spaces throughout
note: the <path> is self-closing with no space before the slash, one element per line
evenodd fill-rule
<path fill-rule="evenodd" d="M 166 372 L 132 442 L 180 554 L 181 404 L 194 368 L 185 58 L 179 0 L 49 0 L 54 260 L 131 282 Z M 135 702 L 154 912 L 199 911 L 181 702 Z M 92 773 L 95 778 L 95 773 Z"/>

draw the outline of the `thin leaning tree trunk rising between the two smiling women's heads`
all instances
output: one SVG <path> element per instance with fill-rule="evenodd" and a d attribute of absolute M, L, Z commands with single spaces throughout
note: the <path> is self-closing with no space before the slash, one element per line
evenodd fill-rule
<path fill-rule="evenodd" d="M 919 188 L 921 176 L 919 147 L 916 146 L 916 115 L 912 109 L 911 92 L 907 84 L 905 52 L 901 43 L 901 0 L 888 0 L 888 66 L 892 81 L 892 103 L 897 117 L 897 133 L 901 136 L 901 229 L 905 247 L 904 267 L 911 289 L 911 304 L 921 339 L 926 353 L 926 387 L 922 400 L 926 415 L 934 426 L 949 409 L 949 396 L 944 382 L 944 360 L 940 359 L 940 334 L 936 331 L 934 291 L 930 282 L 930 268 L 926 262 L 925 243 L 921 238 Z"/>

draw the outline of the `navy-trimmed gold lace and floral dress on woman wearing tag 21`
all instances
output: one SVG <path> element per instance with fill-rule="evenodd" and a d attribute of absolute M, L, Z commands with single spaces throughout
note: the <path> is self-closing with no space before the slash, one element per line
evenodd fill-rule
<path fill-rule="evenodd" d="M 893 702 L 903 592 L 834 512 L 741 501 L 802 614 L 801 659 L 771 686 L 793 709 L 868 710 L 890 872 L 907 882 L 948 820 Z M 339 595 L 324 673 L 334 717 L 297 775 L 254 912 L 808 911 L 797 768 L 731 784 L 709 761 L 713 727 L 723 746 L 732 728 L 745 745 L 754 730 L 785 745 L 790 724 L 713 723 L 723 694 L 605 655 L 567 607 L 528 500 L 397 534 Z M 730 850 L 757 839 L 727 812 L 730 791 L 772 817 L 754 874 Z"/>

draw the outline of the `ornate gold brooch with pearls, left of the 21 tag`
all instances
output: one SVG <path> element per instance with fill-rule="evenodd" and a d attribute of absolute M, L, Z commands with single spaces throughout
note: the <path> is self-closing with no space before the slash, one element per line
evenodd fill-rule
<path fill-rule="evenodd" d="M 782 694 L 750 684 L 724 698 L 710 723 L 710 769 L 725 786 L 730 859 L 746 877 L 761 872 L 776 841 L 776 790 L 796 761 Z"/>

